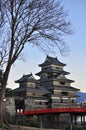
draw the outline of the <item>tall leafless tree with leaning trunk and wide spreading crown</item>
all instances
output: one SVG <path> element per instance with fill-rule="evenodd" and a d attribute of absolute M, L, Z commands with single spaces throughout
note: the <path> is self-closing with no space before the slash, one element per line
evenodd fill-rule
<path fill-rule="evenodd" d="M 11 66 L 18 59 L 26 44 L 42 50 L 58 47 L 61 53 L 64 34 L 71 34 L 60 0 L 1 0 L 4 5 L 5 23 L 0 37 L 0 63 L 4 68 L 0 97 L 0 119 L 3 122 L 3 99 Z M 64 46 L 65 47 L 65 46 Z"/>

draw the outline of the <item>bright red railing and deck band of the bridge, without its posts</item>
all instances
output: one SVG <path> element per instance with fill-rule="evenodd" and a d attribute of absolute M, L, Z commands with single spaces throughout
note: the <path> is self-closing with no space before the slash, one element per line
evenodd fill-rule
<path fill-rule="evenodd" d="M 48 108 L 48 109 L 37 109 L 19 112 L 23 115 L 40 115 L 40 114 L 50 114 L 50 113 L 86 113 L 86 108 Z"/>

